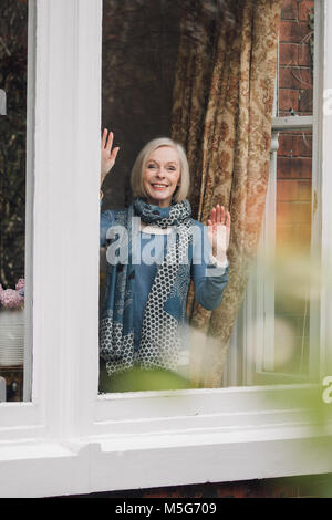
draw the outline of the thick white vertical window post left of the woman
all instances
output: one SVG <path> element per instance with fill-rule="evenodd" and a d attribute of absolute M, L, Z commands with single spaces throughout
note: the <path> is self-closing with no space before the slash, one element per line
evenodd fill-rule
<path fill-rule="evenodd" d="M 32 391 L 66 438 L 97 388 L 101 1 L 38 2 L 38 34 Z"/>

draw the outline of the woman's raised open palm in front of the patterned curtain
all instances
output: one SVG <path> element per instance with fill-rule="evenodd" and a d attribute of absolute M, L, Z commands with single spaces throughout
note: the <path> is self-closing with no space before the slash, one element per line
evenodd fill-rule
<path fill-rule="evenodd" d="M 230 236 L 230 214 L 224 206 L 211 209 L 208 220 L 208 239 L 212 248 L 212 254 L 220 262 L 225 262 Z"/>

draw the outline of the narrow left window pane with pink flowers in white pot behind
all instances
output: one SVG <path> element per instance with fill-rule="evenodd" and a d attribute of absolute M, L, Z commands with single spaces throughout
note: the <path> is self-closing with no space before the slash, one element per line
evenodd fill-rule
<path fill-rule="evenodd" d="M 1 0 L 0 35 L 0 401 L 11 402 L 23 399 L 27 1 Z"/>

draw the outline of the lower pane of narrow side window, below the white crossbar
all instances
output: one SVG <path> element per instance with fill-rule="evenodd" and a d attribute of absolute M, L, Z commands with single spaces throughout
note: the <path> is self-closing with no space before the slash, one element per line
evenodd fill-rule
<path fill-rule="evenodd" d="M 308 372 L 310 332 L 312 133 L 284 132 L 277 160 L 277 370 Z M 305 277 L 305 273 L 308 277 Z"/>

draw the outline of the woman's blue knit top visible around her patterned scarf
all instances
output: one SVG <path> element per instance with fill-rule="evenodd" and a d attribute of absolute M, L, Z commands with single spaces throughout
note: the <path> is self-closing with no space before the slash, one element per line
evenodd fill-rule
<path fill-rule="evenodd" d="M 106 210 L 101 214 L 100 243 L 106 246 L 106 233 L 110 227 L 120 223 L 126 210 Z M 176 318 L 181 325 L 187 324 L 186 303 L 190 280 L 194 281 L 195 299 L 207 310 L 216 309 L 222 299 L 228 282 L 228 269 L 217 267 L 206 261 L 211 254 L 211 247 L 206 229 L 201 222 L 193 220 L 201 233 L 201 240 L 193 239 L 188 251 L 188 264 L 180 264 L 176 287 L 170 291 L 165 303 L 165 311 Z M 153 243 L 151 242 L 153 240 Z M 167 235 L 148 235 L 141 231 L 142 262 L 135 264 L 135 300 L 134 300 L 134 343 L 139 346 L 142 323 L 147 298 L 157 271 L 157 263 L 163 261 L 166 253 Z M 144 262 L 146 251 L 153 248 L 156 262 Z M 112 269 L 112 268 L 111 268 Z"/>

